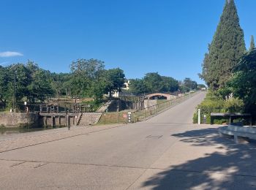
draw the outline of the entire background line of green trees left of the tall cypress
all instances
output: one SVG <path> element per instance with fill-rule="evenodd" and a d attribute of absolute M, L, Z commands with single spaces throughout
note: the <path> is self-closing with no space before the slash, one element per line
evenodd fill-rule
<path fill-rule="evenodd" d="M 101 102 L 104 94 L 111 96 L 124 88 L 124 71 L 105 69 L 103 61 L 78 59 L 70 64 L 69 73 L 55 73 L 39 68 L 33 61 L 26 64 L 0 66 L 0 109 L 17 107 L 18 103 L 45 102 L 48 97 L 92 97 Z M 147 73 L 143 79 L 132 79 L 129 91 L 133 94 L 154 92 L 187 92 L 197 88 L 190 78 L 183 82 L 157 72 Z"/>

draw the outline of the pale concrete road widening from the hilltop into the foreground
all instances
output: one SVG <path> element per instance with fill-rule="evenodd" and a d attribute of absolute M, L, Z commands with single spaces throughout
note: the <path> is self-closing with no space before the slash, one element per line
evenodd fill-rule
<path fill-rule="evenodd" d="M 145 122 L 2 152 L 0 189 L 256 188 L 255 144 L 192 124 L 204 96 Z"/>

